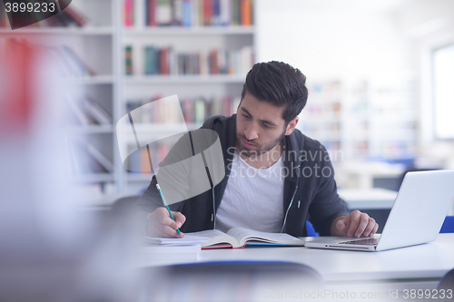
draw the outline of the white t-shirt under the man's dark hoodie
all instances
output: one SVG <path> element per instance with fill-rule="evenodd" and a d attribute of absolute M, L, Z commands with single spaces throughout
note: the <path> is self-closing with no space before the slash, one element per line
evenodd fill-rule
<path fill-rule="evenodd" d="M 282 157 L 268 169 L 255 169 L 235 152 L 232 170 L 216 212 L 216 229 L 234 227 L 281 232 L 283 221 Z"/>

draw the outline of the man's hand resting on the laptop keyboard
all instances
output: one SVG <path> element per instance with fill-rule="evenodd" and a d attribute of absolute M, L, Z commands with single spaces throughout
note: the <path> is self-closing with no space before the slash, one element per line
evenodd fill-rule
<path fill-rule="evenodd" d="M 366 213 L 361 213 L 358 209 L 352 211 L 348 216 L 341 216 L 332 221 L 331 235 L 332 236 L 348 236 L 357 237 L 373 236 L 379 224 L 375 219 L 369 217 Z"/>

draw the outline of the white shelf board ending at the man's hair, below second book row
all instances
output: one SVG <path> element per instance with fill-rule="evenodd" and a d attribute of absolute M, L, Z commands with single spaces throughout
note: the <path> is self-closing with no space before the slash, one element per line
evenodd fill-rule
<path fill-rule="evenodd" d="M 159 83 L 244 83 L 246 75 L 210 74 L 210 75 L 133 75 L 123 77 L 126 84 Z"/>

